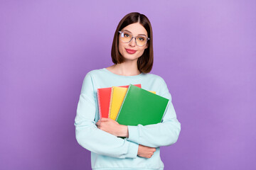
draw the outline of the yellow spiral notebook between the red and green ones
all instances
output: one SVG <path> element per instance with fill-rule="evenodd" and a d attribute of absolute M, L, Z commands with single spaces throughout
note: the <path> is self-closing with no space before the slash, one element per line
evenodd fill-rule
<path fill-rule="evenodd" d="M 122 106 L 122 102 L 124 100 L 125 94 L 127 93 L 127 89 L 125 87 L 112 86 L 112 93 L 110 98 L 110 113 L 109 118 L 115 120 L 117 118 L 119 109 Z M 156 94 L 156 91 L 150 91 L 153 94 Z"/>

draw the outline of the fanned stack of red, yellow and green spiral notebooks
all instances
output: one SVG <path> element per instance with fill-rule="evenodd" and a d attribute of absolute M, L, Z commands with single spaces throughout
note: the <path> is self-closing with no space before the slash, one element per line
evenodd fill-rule
<path fill-rule="evenodd" d="M 141 84 L 97 89 L 100 118 L 111 118 L 120 125 L 161 123 L 169 99 L 155 91 L 142 89 Z"/>

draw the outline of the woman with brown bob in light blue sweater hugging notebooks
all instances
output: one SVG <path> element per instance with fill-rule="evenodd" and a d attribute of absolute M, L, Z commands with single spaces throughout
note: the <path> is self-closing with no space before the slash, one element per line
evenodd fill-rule
<path fill-rule="evenodd" d="M 140 13 L 128 13 L 114 33 L 114 64 L 85 75 L 75 117 L 75 137 L 91 151 L 92 169 L 164 169 L 160 147 L 178 140 L 181 123 L 176 119 L 171 94 L 164 79 L 149 74 L 153 66 L 152 42 L 149 19 Z M 129 84 L 141 84 L 142 89 L 169 98 L 161 123 L 126 126 L 111 118 L 99 118 L 97 89 Z"/>

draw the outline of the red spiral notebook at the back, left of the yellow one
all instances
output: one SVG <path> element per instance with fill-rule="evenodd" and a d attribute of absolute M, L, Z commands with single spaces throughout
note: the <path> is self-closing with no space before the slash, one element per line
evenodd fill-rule
<path fill-rule="evenodd" d="M 142 88 L 141 84 L 133 84 L 139 88 Z M 126 87 L 128 88 L 129 85 L 126 86 L 119 86 L 119 87 Z M 98 108 L 100 113 L 100 118 L 109 118 L 109 111 L 110 111 L 110 98 L 111 98 L 111 87 L 100 88 L 97 89 L 97 101 L 98 101 Z"/>

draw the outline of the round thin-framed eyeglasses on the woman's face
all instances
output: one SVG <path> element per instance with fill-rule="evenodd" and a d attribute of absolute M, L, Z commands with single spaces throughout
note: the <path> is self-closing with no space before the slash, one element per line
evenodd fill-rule
<path fill-rule="evenodd" d="M 146 45 L 147 40 L 150 39 L 150 38 L 147 38 L 146 35 L 137 35 L 136 37 L 134 37 L 132 33 L 128 32 L 127 30 L 124 30 L 124 31 L 119 30 L 118 32 L 121 35 L 122 42 L 130 42 L 132 38 L 135 38 L 135 42 L 138 46 Z"/>

